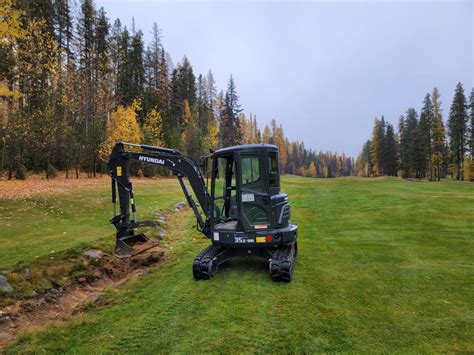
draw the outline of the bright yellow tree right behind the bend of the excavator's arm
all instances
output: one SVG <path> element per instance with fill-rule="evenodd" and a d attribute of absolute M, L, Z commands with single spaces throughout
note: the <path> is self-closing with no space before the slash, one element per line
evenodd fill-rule
<path fill-rule="evenodd" d="M 112 148 L 117 142 L 142 142 L 142 133 L 137 121 L 137 111 L 139 109 L 140 103 L 135 100 L 130 106 L 123 107 L 119 105 L 112 112 L 107 124 L 106 138 L 99 148 L 100 159 L 108 161 Z"/>

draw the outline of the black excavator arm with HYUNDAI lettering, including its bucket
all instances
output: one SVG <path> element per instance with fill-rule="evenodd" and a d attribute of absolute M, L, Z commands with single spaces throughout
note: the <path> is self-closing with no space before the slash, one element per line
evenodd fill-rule
<path fill-rule="evenodd" d="M 130 181 L 131 161 L 152 164 L 172 170 L 174 175 L 178 177 L 189 206 L 194 211 L 198 229 L 207 237 L 210 237 L 210 195 L 207 191 L 201 169 L 196 161 L 175 149 L 119 142 L 112 150 L 107 167 L 108 173 L 112 178 L 114 217 L 110 222 L 117 229 L 117 255 L 133 255 L 131 245 L 146 240 L 143 234 L 135 235 L 134 233 L 134 230 L 141 224 L 137 220 L 133 187 Z M 188 179 L 201 210 L 199 210 L 192 194 L 189 192 L 184 182 L 184 177 Z M 118 214 L 116 213 L 117 195 L 120 206 Z M 203 215 L 205 218 L 203 218 Z"/>

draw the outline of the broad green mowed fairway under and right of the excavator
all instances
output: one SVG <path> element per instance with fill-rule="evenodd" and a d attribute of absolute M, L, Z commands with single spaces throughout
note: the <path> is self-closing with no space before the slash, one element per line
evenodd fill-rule
<path fill-rule="evenodd" d="M 169 228 L 177 240 L 169 263 L 108 292 L 111 305 L 26 334 L 9 351 L 474 351 L 473 184 L 285 177 L 283 187 L 299 226 L 292 283 L 273 283 L 267 264 L 252 259 L 194 281 L 193 258 L 208 241 L 180 212 Z M 146 213 L 170 189 L 143 186 Z M 106 188 L 82 196 L 94 208 L 78 208 L 62 227 L 82 228 L 84 240 L 109 235 Z M 27 223 L 16 228 L 42 235 Z M 11 263 L 17 249 L 8 250 Z"/>

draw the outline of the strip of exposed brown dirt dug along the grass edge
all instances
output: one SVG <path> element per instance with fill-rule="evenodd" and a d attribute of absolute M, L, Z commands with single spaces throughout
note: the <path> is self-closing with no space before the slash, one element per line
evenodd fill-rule
<path fill-rule="evenodd" d="M 91 272 L 69 287 L 53 288 L 35 299 L 18 301 L 0 311 L 0 351 L 19 333 L 61 323 L 101 301 L 105 289 L 118 287 L 164 263 L 162 249 L 154 248 L 127 259 L 103 253 L 99 260 L 82 256 Z"/>

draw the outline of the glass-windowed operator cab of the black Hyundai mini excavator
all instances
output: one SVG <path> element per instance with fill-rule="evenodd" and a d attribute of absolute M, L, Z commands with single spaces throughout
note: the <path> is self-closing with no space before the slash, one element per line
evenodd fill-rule
<path fill-rule="evenodd" d="M 251 232 L 288 222 L 289 205 L 287 196 L 280 193 L 276 146 L 225 148 L 215 152 L 212 160 L 213 229 Z M 285 206 L 288 210 L 282 214 Z"/>

